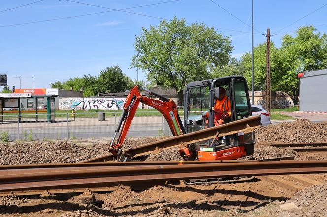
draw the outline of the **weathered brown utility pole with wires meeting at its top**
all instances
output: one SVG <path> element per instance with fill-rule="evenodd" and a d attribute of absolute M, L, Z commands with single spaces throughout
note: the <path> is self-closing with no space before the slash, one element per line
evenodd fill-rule
<path fill-rule="evenodd" d="M 267 65 L 266 65 L 266 110 L 271 112 L 271 82 L 270 82 L 270 28 L 267 29 Z"/>

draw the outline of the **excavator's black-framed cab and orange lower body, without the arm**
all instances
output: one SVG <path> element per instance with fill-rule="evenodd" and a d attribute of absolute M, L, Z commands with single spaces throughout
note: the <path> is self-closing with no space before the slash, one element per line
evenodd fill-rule
<path fill-rule="evenodd" d="M 214 106 L 219 98 L 219 88 L 225 89 L 230 101 L 231 116 L 224 123 L 252 116 L 249 91 L 243 76 L 191 82 L 186 86 L 184 98 L 183 124 L 186 133 L 215 126 Z M 235 133 L 191 144 L 179 152 L 188 160 L 230 160 L 252 155 L 254 144 L 254 132 Z"/>

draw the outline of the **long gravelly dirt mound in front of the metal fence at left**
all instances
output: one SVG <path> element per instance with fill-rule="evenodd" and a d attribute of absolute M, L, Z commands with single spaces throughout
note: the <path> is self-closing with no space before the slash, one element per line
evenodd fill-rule
<path fill-rule="evenodd" d="M 124 148 L 147 144 L 161 138 L 127 138 Z M 91 143 L 91 142 L 90 142 Z M 11 142 L 0 144 L 0 165 L 33 163 L 76 163 L 109 153 L 110 143 L 80 145 L 71 141 Z"/>

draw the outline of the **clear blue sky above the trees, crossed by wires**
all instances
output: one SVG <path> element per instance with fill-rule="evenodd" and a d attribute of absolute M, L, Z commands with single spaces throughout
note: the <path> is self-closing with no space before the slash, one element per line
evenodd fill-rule
<path fill-rule="evenodd" d="M 29 4 L 37 0 L 0 0 L 0 11 Z M 98 6 L 123 9 L 156 4 L 169 0 L 75 0 Z M 214 0 L 221 7 L 251 26 L 251 0 Z M 255 0 L 254 27 L 261 33 L 271 29 L 275 34 L 299 18 L 326 4 L 323 0 Z M 118 65 L 125 74 L 136 78 L 130 69 L 135 54 L 135 35 L 142 27 L 158 25 L 160 19 L 113 11 L 49 22 L 7 26 L 11 24 L 48 20 L 108 11 L 65 0 L 43 0 L 28 6 L 0 12 L 0 73 L 8 75 L 8 85 L 19 88 L 50 87 L 54 81 L 83 74 L 98 75 L 107 66 Z M 218 32 L 229 35 L 234 50 L 232 56 L 240 57 L 251 50 L 251 27 L 246 26 L 210 0 L 181 0 L 171 3 L 128 9 L 126 11 L 172 19 L 185 18 L 188 23 L 204 22 Z M 280 46 L 284 32 L 294 34 L 300 25 L 313 24 L 318 31 L 327 31 L 327 6 L 317 10 L 271 38 Z M 236 31 L 229 31 L 231 29 Z M 262 43 L 264 36 L 255 31 L 254 43 Z M 257 34 L 258 33 L 258 34 Z M 139 71 L 139 78 L 146 79 Z M 2 87 L 1 87 L 2 89 Z"/>

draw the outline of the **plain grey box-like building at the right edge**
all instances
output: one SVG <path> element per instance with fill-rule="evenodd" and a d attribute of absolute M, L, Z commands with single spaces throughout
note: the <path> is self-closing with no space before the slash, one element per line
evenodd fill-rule
<path fill-rule="evenodd" d="M 302 72 L 300 78 L 300 111 L 327 111 L 327 69 Z"/>

